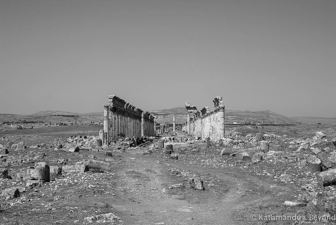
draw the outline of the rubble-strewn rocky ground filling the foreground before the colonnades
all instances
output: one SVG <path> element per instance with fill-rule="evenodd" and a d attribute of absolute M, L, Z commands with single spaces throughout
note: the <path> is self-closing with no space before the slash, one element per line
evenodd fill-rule
<path fill-rule="evenodd" d="M 334 175 L 321 174 L 335 168 L 335 131 L 232 127 L 223 142 L 176 143 L 172 154 L 158 139 L 101 148 L 91 132 L 34 133 L 25 147 L 30 134 L 8 135 L 0 142 L 1 224 L 332 223 Z"/>

